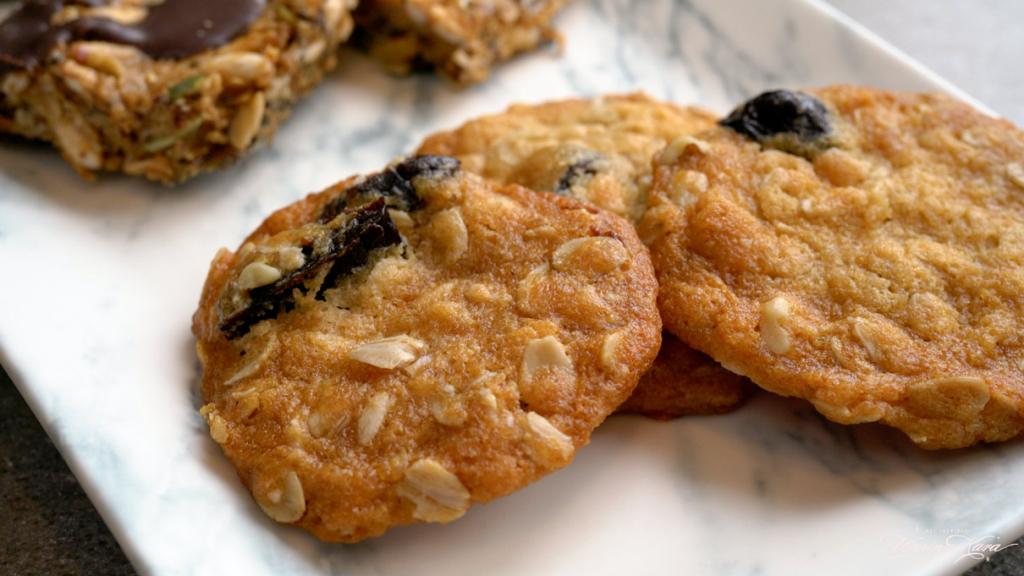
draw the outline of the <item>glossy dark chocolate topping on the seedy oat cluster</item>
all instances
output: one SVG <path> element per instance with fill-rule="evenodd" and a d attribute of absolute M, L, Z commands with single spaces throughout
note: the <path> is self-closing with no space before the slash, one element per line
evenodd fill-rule
<path fill-rule="evenodd" d="M 212 50 L 245 31 L 266 0 L 164 0 L 147 7 L 135 24 L 86 16 L 53 26 L 66 6 L 102 6 L 102 0 L 27 0 L 0 23 L 0 71 L 34 70 L 54 46 L 74 40 L 102 40 L 135 46 L 154 58 L 179 58 Z"/>

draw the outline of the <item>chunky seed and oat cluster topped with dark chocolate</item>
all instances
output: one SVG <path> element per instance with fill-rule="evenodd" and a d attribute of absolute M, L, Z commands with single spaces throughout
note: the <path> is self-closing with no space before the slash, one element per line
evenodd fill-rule
<path fill-rule="evenodd" d="M 165 183 L 269 140 L 336 61 L 352 0 L 28 0 L 0 23 L 0 130 L 83 176 Z"/>

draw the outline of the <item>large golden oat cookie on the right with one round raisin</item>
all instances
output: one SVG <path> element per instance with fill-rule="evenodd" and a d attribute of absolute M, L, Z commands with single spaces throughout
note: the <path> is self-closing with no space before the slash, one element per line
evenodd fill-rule
<path fill-rule="evenodd" d="M 1024 426 L 1024 133 L 938 94 L 774 91 L 655 161 L 667 328 L 925 448 Z"/>

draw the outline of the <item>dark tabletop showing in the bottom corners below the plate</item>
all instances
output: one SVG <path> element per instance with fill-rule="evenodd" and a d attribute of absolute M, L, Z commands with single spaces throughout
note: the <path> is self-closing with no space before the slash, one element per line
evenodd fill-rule
<path fill-rule="evenodd" d="M 132 574 L 5 372 L 0 371 L 0 574 Z M 1024 574 L 1024 538 L 970 576 Z"/>

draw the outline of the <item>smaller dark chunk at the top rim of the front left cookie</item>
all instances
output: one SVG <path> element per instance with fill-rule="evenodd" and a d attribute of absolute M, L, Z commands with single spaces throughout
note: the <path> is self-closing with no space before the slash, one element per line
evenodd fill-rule
<path fill-rule="evenodd" d="M 445 178 L 459 168 L 459 161 L 449 156 L 414 156 L 345 189 L 324 207 L 318 220 L 327 223 L 346 208 L 378 198 L 384 198 L 391 208 L 406 212 L 416 210 L 421 201 L 413 187 L 414 178 Z"/>

